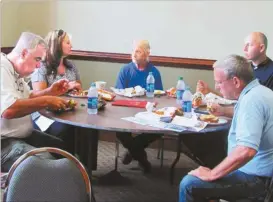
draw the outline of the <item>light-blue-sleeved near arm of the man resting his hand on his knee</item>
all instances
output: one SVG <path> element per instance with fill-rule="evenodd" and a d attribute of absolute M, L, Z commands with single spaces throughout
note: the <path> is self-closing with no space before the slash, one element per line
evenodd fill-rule
<path fill-rule="evenodd" d="M 234 138 L 236 142 L 229 142 L 236 146 L 218 166 L 212 169 L 212 180 L 219 179 L 242 167 L 256 155 L 259 149 L 266 112 L 259 99 L 248 102 L 243 100 L 240 103 L 238 111 L 240 115 L 236 117 L 236 138 Z"/>

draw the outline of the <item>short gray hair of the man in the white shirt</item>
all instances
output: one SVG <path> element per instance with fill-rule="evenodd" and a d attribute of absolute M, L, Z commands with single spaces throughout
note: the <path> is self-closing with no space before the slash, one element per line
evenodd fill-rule
<path fill-rule="evenodd" d="M 47 43 L 41 36 L 31 32 L 23 32 L 12 52 L 21 54 L 24 49 L 35 49 L 38 45 L 42 45 L 47 48 Z"/>

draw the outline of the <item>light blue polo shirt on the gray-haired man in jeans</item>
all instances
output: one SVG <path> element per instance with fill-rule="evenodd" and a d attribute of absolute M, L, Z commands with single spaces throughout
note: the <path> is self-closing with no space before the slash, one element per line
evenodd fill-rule
<path fill-rule="evenodd" d="M 228 153 L 236 146 L 253 148 L 257 154 L 240 171 L 256 176 L 273 174 L 273 91 L 258 80 L 249 83 L 235 105 L 228 135 Z"/>

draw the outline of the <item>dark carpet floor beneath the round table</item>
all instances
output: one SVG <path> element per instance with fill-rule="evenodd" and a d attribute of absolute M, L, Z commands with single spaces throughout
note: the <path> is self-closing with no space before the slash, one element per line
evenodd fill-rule
<path fill-rule="evenodd" d="M 123 165 L 119 159 L 118 173 L 111 172 L 115 165 L 115 144 L 99 142 L 98 169 L 93 172 L 93 191 L 97 202 L 176 202 L 181 178 L 198 165 L 181 154 L 175 169 L 174 185 L 170 185 L 170 166 L 176 153 L 164 152 L 160 168 L 157 149 L 147 149 L 152 173 L 143 174 L 137 162 Z M 120 146 L 120 156 L 124 149 Z"/>

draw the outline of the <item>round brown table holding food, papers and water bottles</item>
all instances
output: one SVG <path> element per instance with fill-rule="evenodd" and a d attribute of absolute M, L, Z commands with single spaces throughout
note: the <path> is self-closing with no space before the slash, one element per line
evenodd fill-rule
<path fill-rule="evenodd" d="M 71 97 L 66 97 L 67 99 L 71 99 Z M 98 130 L 106 130 L 106 131 L 114 131 L 117 133 L 157 133 L 157 134 L 168 134 L 175 136 L 177 138 L 177 156 L 172 163 L 170 169 L 170 180 L 171 183 L 173 182 L 174 176 L 174 167 L 180 158 L 180 151 L 181 151 L 181 137 L 186 134 L 201 134 L 201 133 L 208 133 L 208 132 L 215 132 L 215 131 L 227 131 L 230 127 L 230 123 L 224 125 L 213 125 L 207 126 L 205 129 L 199 132 L 193 131 L 182 131 L 180 133 L 164 130 L 160 128 L 154 128 L 150 126 L 144 126 L 136 123 L 132 123 L 126 120 L 122 120 L 121 118 L 124 117 L 131 117 L 134 116 L 138 112 L 146 111 L 144 108 L 134 108 L 134 107 L 124 107 L 124 106 L 112 106 L 111 102 L 108 102 L 104 109 L 100 110 L 96 115 L 89 115 L 87 113 L 87 99 L 86 98 L 73 98 L 78 104 L 75 110 L 62 112 L 62 113 L 54 113 L 47 110 L 41 110 L 40 113 L 50 119 L 56 120 L 61 123 L 77 126 L 77 128 L 88 128 L 88 129 L 95 129 L 94 131 Z M 176 99 L 168 96 L 161 96 L 155 98 L 146 98 L 146 97 L 133 97 L 133 98 L 126 98 L 117 96 L 117 99 L 126 99 L 126 100 L 146 100 L 149 102 L 157 102 L 157 108 L 162 107 L 171 107 L 177 106 Z M 84 105 L 84 106 L 83 106 Z M 93 133 L 93 135 L 88 135 L 88 138 L 95 138 L 95 141 L 98 141 L 98 133 Z M 91 139 L 87 139 L 87 142 L 92 142 Z M 93 139 L 94 142 L 94 139 Z M 97 144 L 93 146 L 88 146 L 88 153 L 94 153 L 97 151 Z M 90 160 L 89 160 L 90 161 Z M 89 162 L 88 161 L 88 162 Z M 115 169 L 117 168 L 117 156 L 116 156 L 116 165 Z M 92 164 L 87 163 L 87 168 L 89 173 L 92 172 Z M 94 164 L 94 163 L 93 163 Z"/>

